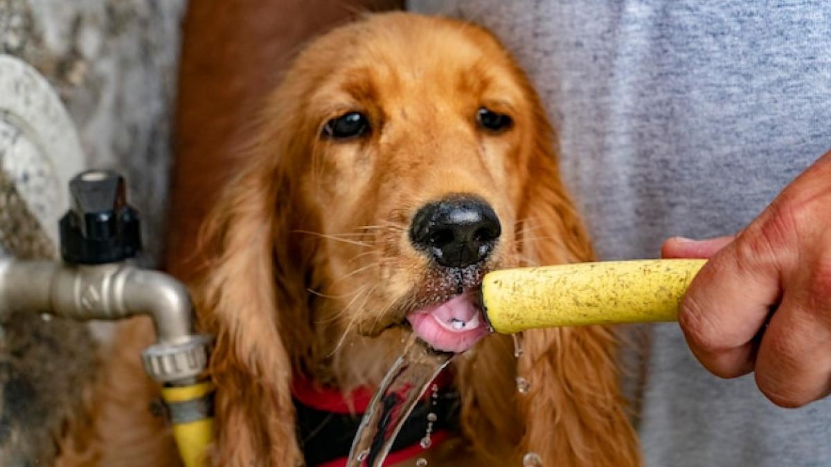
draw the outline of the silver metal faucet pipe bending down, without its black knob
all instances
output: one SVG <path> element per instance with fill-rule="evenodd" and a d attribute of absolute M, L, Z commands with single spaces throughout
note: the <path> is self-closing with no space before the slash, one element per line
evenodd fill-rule
<path fill-rule="evenodd" d="M 0 312 L 45 312 L 78 320 L 148 315 L 159 339 L 142 354 L 151 377 L 189 384 L 208 365 L 211 339 L 195 332 L 187 289 L 165 273 L 125 263 L 0 258 Z"/>

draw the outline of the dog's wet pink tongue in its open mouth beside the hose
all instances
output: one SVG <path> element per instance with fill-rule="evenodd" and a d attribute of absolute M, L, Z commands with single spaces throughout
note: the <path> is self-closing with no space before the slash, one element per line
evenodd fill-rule
<path fill-rule="evenodd" d="M 489 334 L 482 312 L 469 295 L 407 315 L 413 332 L 440 351 L 462 352 Z"/>

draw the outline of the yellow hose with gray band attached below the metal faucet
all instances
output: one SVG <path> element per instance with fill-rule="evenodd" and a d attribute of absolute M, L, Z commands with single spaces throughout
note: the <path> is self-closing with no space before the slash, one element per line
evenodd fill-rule
<path fill-rule="evenodd" d="M 209 403 L 204 401 L 209 401 L 213 391 L 210 382 L 162 389 L 184 467 L 209 465 L 206 452 L 214 440 L 214 418 L 209 413 Z"/>

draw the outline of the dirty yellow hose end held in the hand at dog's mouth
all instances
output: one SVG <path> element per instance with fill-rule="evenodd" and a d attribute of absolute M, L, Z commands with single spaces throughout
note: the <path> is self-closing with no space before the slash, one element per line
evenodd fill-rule
<path fill-rule="evenodd" d="M 642 259 L 494 271 L 484 277 L 495 332 L 534 327 L 676 321 L 704 259 Z"/>

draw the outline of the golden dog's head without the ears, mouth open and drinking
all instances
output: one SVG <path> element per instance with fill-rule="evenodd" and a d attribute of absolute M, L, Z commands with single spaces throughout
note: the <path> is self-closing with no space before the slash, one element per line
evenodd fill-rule
<path fill-rule="evenodd" d="M 479 27 L 386 15 L 313 42 L 283 83 L 263 141 L 281 176 L 261 189 L 291 218 L 278 249 L 307 248 L 309 319 L 470 348 L 488 332 L 471 292 L 519 265 L 529 177 L 553 165 L 527 79 Z"/>

